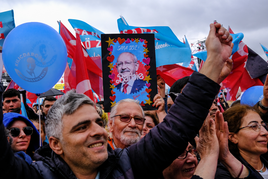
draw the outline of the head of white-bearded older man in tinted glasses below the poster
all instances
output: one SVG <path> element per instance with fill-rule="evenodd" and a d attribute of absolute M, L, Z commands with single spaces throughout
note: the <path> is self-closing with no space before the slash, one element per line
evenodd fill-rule
<path fill-rule="evenodd" d="M 113 149 L 127 148 L 137 143 L 142 135 L 145 121 L 143 109 L 139 101 L 122 99 L 112 107 L 109 128 L 113 138 L 108 138 L 108 143 Z"/>

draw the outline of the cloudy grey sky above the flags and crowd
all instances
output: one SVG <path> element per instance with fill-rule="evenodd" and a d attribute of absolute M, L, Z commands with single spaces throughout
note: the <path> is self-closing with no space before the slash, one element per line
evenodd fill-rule
<path fill-rule="evenodd" d="M 119 33 L 117 19 L 122 14 L 131 26 L 169 26 L 182 41 L 207 37 L 213 20 L 242 32 L 243 41 L 267 60 L 261 46 L 268 48 L 268 1 L 212 0 L 0 0 L 0 12 L 14 10 L 15 25 L 42 22 L 58 31 L 57 20 L 74 33 L 68 19 L 79 19 L 106 34 Z"/>

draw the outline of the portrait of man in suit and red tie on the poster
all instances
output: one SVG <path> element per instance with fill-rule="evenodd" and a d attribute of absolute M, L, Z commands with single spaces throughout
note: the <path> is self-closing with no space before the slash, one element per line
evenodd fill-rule
<path fill-rule="evenodd" d="M 116 69 L 123 81 L 120 80 L 121 83 L 115 87 L 122 91 L 122 93 L 137 93 L 145 86 L 146 81 L 140 79 L 141 75 L 136 74 L 136 71 L 139 69 L 139 62 L 134 54 L 130 52 L 121 53 L 117 58 Z"/>

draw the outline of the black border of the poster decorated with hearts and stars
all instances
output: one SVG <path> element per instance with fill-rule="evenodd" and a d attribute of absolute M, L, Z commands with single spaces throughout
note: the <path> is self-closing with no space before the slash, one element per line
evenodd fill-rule
<path fill-rule="evenodd" d="M 113 95 L 111 93 L 111 85 L 113 85 L 110 82 L 110 78 L 109 75 L 111 75 L 111 70 L 110 67 L 108 67 L 110 65 L 110 61 L 107 60 L 107 57 L 110 57 L 112 55 L 113 52 L 108 51 L 107 48 L 110 47 L 110 43 L 106 42 L 109 41 L 110 39 L 114 39 L 117 40 L 118 38 L 120 39 L 142 39 L 144 44 L 147 44 L 147 47 L 145 49 L 148 50 L 148 52 L 144 52 L 145 54 L 148 55 L 148 57 L 150 58 L 150 62 L 148 64 L 148 66 L 150 66 L 150 68 L 147 70 L 147 72 L 149 72 L 149 74 L 147 74 L 147 76 L 150 75 L 150 86 L 148 87 L 148 89 L 151 91 L 148 91 L 147 93 L 147 101 L 149 100 L 149 103 L 140 103 L 141 107 L 143 108 L 144 111 L 150 111 L 150 110 L 157 110 L 157 108 L 153 107 L 153 98 L 155 97 L 155 95 L 157 94 L 157 74 L 156 74 L 156 61 L 155 61 L 155 37 L 154 34 L 101 34 L 101 57 L 102 57 L 102 74 L 103 74 L 103 93 L 104 93 L 104 111 L 106 113 L 111 111 L 111 107 L 113 105 L 115 105 L 116 98 L 113 99 Z M 110 42 L 111 42 L 110 40 Z M 118 42 L 115 41 L 115 42 Z M 139 41 L 140 42 L 140 41 Z M 119 42 L 118 42 L 119 43 Z M 125 42 L 123 42 L 125 43 Z M 108 46 L 109 45 L 109 46 Z M 115 50 L 115 49 L 114 49 Z M 147 58 L 148 58 L 147 57 Z M 147 66 L 147 67 L 148 67 Z M 113 99 L 111 99 L 111 98 Z M 139 100 L 141 101 L 141 100 Z M 145 101 L 145 99 L 143 99 L 143 101 Z"/>

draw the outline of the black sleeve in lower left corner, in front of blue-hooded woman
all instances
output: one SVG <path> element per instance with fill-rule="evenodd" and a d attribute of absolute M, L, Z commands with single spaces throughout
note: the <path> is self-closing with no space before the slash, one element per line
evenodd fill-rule
<path fill-rule="evenodd" d="M 3 85 L 0 84 L 0 99 L 3 95 Z M 24 160 L 15 157 L 11 150 L 11 146 L 5 135 L 5 127 L 3 124 L 2 103 L 0 103 L 0 178 L 40 178 L 37 171 Z"/>

